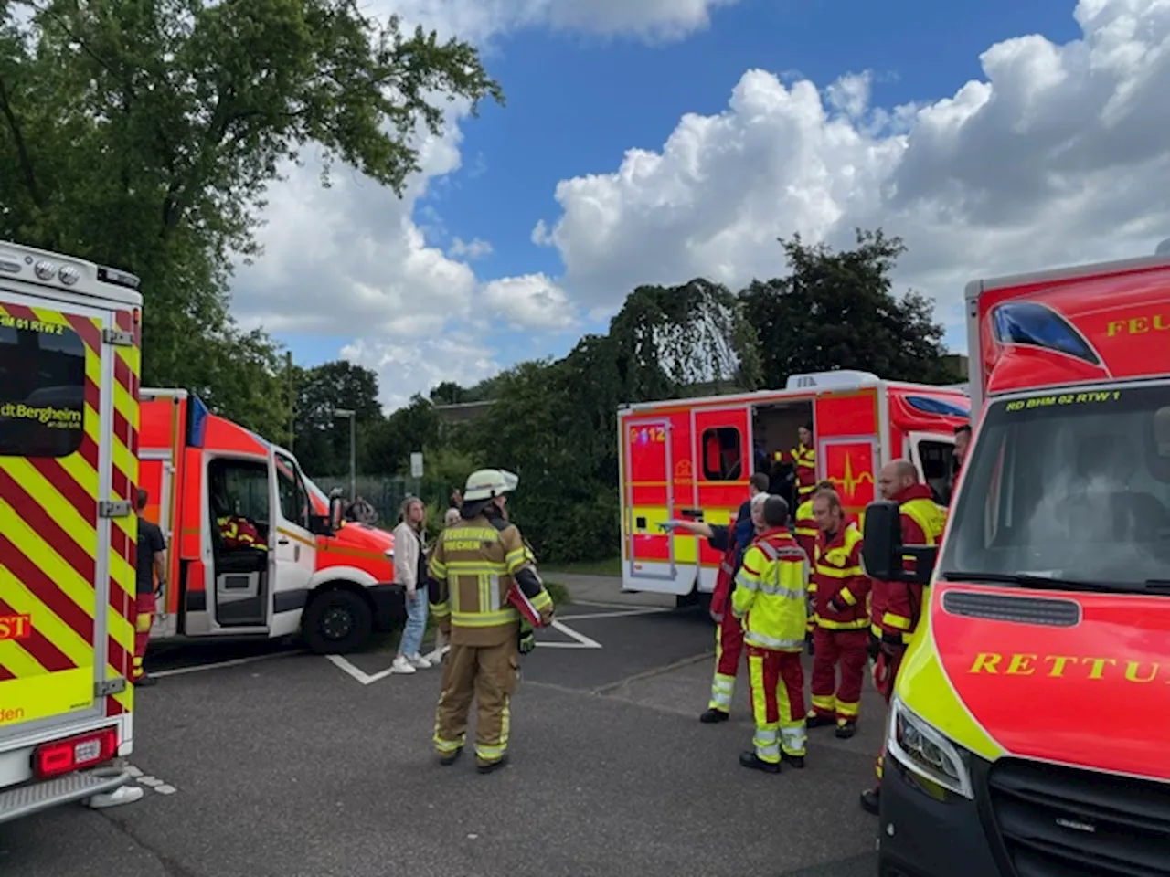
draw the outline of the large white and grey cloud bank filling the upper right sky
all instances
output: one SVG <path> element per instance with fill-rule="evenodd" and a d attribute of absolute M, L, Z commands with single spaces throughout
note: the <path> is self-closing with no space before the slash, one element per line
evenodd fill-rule
<path fill-rule="evenodd" d="M 1170 1 L 1082 0 L 1083 39 L 1006 40 L 951 97 L 870 104 L 867 75 L 821 95 L 749 70 L 718 116 L 684 116 L 658 152 L 563 180 L 562 284 L 612 309 L 639 283 L 783 274 L 778 236 L 852 242 L 882 226 L 909 251 L 899 281 L 958 323 L 966 281 L 1152 254 L 1170 235 Z"/>

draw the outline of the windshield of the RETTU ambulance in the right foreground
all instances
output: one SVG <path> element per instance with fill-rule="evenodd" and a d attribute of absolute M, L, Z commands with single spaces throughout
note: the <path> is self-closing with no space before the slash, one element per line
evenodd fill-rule
<path fill-rule="evenodd" d="M 942 574 L 1170 582 L 1170 386 L 1039 393 L 984 416 Z"/>

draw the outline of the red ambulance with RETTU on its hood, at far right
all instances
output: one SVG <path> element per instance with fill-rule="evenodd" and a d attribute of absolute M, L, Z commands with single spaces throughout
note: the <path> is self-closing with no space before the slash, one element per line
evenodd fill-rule
<path fill-rule="evenodd" d="M 882 877 L 1170 873 L 1170 255 L 976 281 L 978 423 L 896 681 Z M 937 560 L 937 562 L 936 562 Z"/>

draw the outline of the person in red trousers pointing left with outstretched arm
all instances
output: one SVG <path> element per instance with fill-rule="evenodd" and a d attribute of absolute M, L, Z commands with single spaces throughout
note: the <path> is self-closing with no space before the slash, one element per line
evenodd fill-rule
<path fill-rule="evenodd" d="M 723 552 L 711 594 L 711 617 L 718 622 L 715 628 L 715 678 L 711 681 L 711 697 L 707 710 L 698 717 L 700 721 L 707 724 L 727 721 L 731 712 L 735 677 L 743 654 L 743 624 L 731 613 L 731 592 L 735 589 L 735 575 L 743 564 L 744 552 L 756 533 L 751 519 L 751 500 L 758 493 L 768 492 L 768 476 L 755 472 L 748 481 L 748 500 L 739 506 L 735 523 L 730 526 L 700 520 L 670 520 L 665 525 L 706 537 L 708 545 Z"/>

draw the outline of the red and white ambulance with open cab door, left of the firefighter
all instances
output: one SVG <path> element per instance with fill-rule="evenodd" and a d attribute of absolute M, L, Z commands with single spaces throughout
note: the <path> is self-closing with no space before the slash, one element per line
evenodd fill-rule
<path fill-rule="evenodd" d="M 142 389 L 140 483 L 167 539 L 152 641 L 300 634 L 318 654 L 360 649 L 405 615 L 394 538 L 342 522 L 289 451 L 181 389 Z M 257 536 L 225 539 L 221 523 Z"/>

